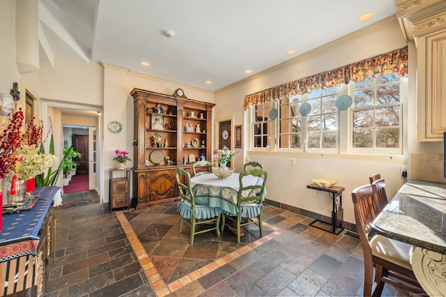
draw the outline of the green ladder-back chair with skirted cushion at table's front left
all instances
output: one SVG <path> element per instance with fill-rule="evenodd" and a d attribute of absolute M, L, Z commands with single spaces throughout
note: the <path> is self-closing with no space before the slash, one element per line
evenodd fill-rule
<path fill-rule="evenodd" d="M 183 231 L 183 222 L 190 225 L 190 245 L 194 244 L 196 234 L 208 231 L 217 231 L 220 237 L 220 219 L 222 209 L 203 204 L 195 204 L 194 192 L 192 192 L 190 174 L 184 169 L 176 168 L 176 182 L 180 190 L 181 201 L 178 204 L 178 212 L 181 215 L 180 233 Z M 209 224 L 209 223 L 215 223 Z M 199 228 L 197 228 L 199 227 Z M 197 229 L 199 229 L 197 231 Z"/>

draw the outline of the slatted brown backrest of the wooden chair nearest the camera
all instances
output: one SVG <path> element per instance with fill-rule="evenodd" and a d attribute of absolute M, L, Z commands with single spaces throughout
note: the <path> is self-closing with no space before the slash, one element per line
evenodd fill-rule
<path fill-rule="evenodd" d="M 373 197 L 374 191 L 371 185 L 362 185 L 361 187 L 355 188 L 351 193 L 357 234 L 360 236 L 362 251 L 364 252 L 364 265 L 366 264 L 366 259 L 369 261 L 367 264 L 371 264 L 369 234 L 371 231 L 371 222 L 376 218 Z"/>

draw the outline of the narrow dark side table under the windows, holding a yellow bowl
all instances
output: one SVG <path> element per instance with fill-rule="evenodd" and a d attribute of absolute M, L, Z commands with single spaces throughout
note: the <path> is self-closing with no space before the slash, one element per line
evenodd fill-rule
<path fill-rule="evenodd" d="M 342 221 L 344 220 L 344 209 L 342 208 L 342 192 L 345 190 L 344 187 L 337 187 L 336 185 L 332 185 L 330 188 L 323 188 L 317 183 L 312 183 L 307 185 L 308 189 L 328 192 L 332 197 L 332 230 L 323 229 L 314 225 L 315 222 L 322 222 L 321 220 L 314 220 L 309 225 L 316 227 L 318 229 L 323 229 L 324 231 L 328 231 L 332 234 L 338 235 L 341 233 L 344 228 L 341 227 Z M 336 197 L 339 196 L 339 204 L 337 204 Z M 325 222 L 323 222 L 326 224 Z M 339 226 L 339 227 L 338 227 Z"/>

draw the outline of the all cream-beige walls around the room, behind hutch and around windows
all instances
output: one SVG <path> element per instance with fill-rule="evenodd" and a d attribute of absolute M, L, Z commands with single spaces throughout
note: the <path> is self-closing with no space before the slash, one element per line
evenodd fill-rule
<path fill-rule="evenodd" d="M 3 40 L 0 55 L 0 91 L 8 93 L 13 82 L 20 82 L 20 79 L 22 82 L 26 81 L 26 84 L 38 93 L 39 98 L 43 99 L 44 104 L 40 102 L 39 106 L 47 110 L 41 114 L 45 114 L 45 119 L 48 118 L 47 125 L 53 126 L 55 139 L 63 138 L 63 117 L 60 112 L 52 109 L 52 102 L 66 104 L 70 108 L 80 105 L 82 108 L 102 111 L 99 125 L 102 134 L 100 161 L 103 164 L 100 188 L 102 201 L 105 202 L 108 201 L 108 170 L 114 167 L 113 150 L 119 148 L 130 151 L 130 158 L 133 159 L 133 104 L 129 96 L 133 88 L 169 94 L 180 87 L 189 98 L 215 102 L 217 105 L 214 107 L 213 123 L 215 119 L 232 119 L 233 125 L 244 125 L 245 145 L 236 155 L 234 163 L 237 171 L 242 168 L 246 157 L 258 160 L 266 166 L 269 172 L 268 199 L 330 215 L 330 198 L 325 195 L 318 198 L 317 192 L 308 190 L 306 185 L 311 183 L 313 178 L 334 178 L 339 181 L 339 185 L 346 188 L 343 197 L 344 220 L 348 222 L 354 222 L 351 191 L 358 185 L 367 183 L 370 174 L 382 174 L 386 180 L 388 196 L 392 197 L 403 183 L 400 167 L 408 165 L 410 153 L 442 153 L 442 144 L 422 144 L 416 140 L 416 49 L 413 44 L 409 45 L 409 94 L 403 103 L 404 135 L 407 139 L 403 155 L 318 155 L 293 151 L 270 153 L 247 150 L 246 140 L 249 133 L 246 128 L 249 123 L 243 113 L 245 95 L 403 47 L 406 41 L 403 40 L 396 17 L 369 26 L 359 33 L 352 33 L 311 53 L 297 56 L 214 94 L 114 66 L 82 63 L 60 57 L 55 58 L 54 68 L 43 66 L 36 73 L 21 76 L 15 65 L 14 12 L 14 1 L 0 0 L 0 36 Z M 110 133 L 107 130 L 109 121 L 123 123 L 123 132 Z M 213 129 L 215 130 L 215 125 Z M 214 133 L 214 136 L 217 135 Z M 216 145 L 215 141 L 213 144 Z M 61 152 L 59 143 L 56 145 L 56 152 Z M 290 165 L 291 158 L 295 158 L 295 166 Z"/>

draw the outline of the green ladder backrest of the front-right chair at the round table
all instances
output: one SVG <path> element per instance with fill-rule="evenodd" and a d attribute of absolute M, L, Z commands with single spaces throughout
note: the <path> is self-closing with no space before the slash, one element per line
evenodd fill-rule
<path fill-rule="evenodd" d="M 244 185 L 243 177 L 245 176 L 256 176 L 261 178 L 257 180 L 254 185 Z M 265 195 L 266 180 L 268 179 L 268 172 L 263 169 L 251 169 L 247 172 L 242 172 L 238 176 L 238 182 L 240 184 L 240 189 L 238 190 L 237 206 L 243 203 L 256 202 L 261 204 L 263 202 L 263 197 Z"/>

